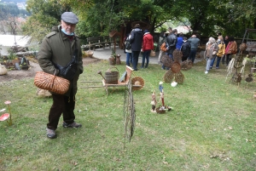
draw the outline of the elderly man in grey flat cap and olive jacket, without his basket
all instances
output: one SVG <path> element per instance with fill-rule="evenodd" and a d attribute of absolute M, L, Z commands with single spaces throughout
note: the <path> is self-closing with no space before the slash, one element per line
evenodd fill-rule
<path fill-rule="evenodd" d="M 72 12 L 61 14 L 61 25 L 53 27 L 53 30 L 46 35 L 38 52 L 38 63 L 42 70 L 65 77 L 70 81 L 70 87 L 66 94 L 52 93 L 53 105 L 49 110 L 49 123 L 46 134 L 49 139 L 56 137 L 55 129 L 58 126 L 61 114 L 63 114 L 64 128 L 80 128 L 82 125 L 75 123 L 75 94 L 77 93 L 77 82 L 79 75 L 83 73 L 82 51 L 80 40 L 74 33 L 79 19 Z M 73 63 L 73 77 L 62 74 L 62 67 Z"/>

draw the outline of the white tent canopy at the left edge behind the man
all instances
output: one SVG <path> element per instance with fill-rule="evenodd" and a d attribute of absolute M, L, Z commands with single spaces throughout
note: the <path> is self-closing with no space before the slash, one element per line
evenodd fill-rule
<path fill-rule="evenodd" d="M 2 46 L 15 46 L 25 47 L 31 37 L 15 36 L 15 35 L 0 35 L 0 45 Z"/>

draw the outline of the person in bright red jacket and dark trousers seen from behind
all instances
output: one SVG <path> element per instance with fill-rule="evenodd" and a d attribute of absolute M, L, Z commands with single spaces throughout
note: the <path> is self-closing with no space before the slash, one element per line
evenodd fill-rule
<path fill-rule="evenodd" d="M 145 68 L 148 67 L 149 63 L 149 54 L 151 50 L 154 49 L 154 41 L 152 35 L 149 33 L 148 30 L 144 31 L 144 36 L 143 36 L 143 63 L 141 68 L 144 68 L 145 64 L 145 59 L 147 60 Z"/>

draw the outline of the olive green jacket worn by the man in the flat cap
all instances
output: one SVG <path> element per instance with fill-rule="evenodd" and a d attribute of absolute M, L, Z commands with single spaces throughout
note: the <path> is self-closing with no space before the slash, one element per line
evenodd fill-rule
<path fill-rule="evenodd" d="M 76 94 L 79 75 L 84 71 L 79 37 L 75 37 L 71 42 L 61 31 L 61 26 L 58 26 L 54 31 L 51 31 L 44 37 L 37 56 L 39 66 L 41 66 L 43 71 L 49 74 L 54 74 L 56 71 L 56 74 L 58 75 L 59 71 L 55 69 L 52 62 L 55 62 L 55 64 L 60 66 L 67 66 L 72 60 L 75 47 L 79 49 L 79 69 L 73 80 L 70 82 L 69 89 L 65 94 L 67 96 L 69 96 L 71 89 L 73 89 L 73 94 Z"/>

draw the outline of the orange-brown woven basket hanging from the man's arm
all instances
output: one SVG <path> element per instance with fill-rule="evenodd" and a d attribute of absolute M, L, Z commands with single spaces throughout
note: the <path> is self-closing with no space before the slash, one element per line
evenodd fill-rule
<path fill-rule="evenodd" d="M 37 71 L 34 84 L 38 88 L 49 90 L 55 94 L 65 94 L 70 82 L 63 77 L 57 77 L 44 71 Z"/>

